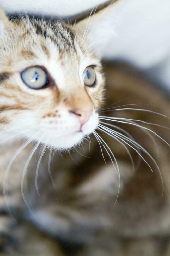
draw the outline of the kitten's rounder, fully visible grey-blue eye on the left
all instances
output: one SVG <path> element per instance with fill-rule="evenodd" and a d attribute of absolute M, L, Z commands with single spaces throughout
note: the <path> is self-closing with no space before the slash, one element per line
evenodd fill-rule
<path fill-rule="evenodd" d="M 21 72 L 22 81 L 32 89 L 40 89 L 48 85 L 48 76 L 41 67 L 26 68 Z"/>

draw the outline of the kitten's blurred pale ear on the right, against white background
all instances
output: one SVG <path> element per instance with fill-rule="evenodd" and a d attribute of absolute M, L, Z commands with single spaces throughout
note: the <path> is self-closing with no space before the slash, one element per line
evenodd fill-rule
<path fill-rule="evenodd" d="M 122 0 L 110 1 L 110 4 L 98 8 L 94 7 L 88 17 L 81 19 L 75 25 L 82 34 L 82 44 L 85 43 L 85 47 L 90 45 L 91 49 L 95 51 L 101 46 L 107 45 L 110 37 L 116 34 L 117 26 L 120 23 Z M 96 48 L 95 45 L 98 47 Z"/>

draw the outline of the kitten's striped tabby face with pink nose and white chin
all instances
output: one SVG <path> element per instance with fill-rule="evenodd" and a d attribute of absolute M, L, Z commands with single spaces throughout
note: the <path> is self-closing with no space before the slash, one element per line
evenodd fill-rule
<path fill-rule="evenodd" d="M 0 130 L 57 149 L 75 146 L 98 125 L 104 87 L 100 61 L 72 26 L 29 19 L 5 22 Z"/>

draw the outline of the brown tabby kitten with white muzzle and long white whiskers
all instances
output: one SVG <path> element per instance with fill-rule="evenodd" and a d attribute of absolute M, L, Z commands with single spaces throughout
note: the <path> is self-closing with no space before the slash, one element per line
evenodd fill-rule
<path fill-rule="evenodd" d="M 108 63 L 107 104 L 124 101 L 100 109 L 105 77 L 82 33 L 100 12 L 75 25 L 0 14 L 1 254 L 169 255 L 168 99 Z M 90 151 L 52 158 L 91 133 Z"/>

